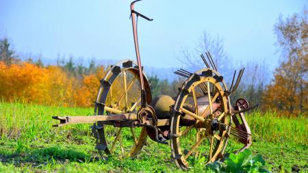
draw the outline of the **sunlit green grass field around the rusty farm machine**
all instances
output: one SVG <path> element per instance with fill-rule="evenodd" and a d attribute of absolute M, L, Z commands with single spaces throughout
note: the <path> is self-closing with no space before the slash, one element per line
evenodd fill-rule
<path fill-rule="evenodd" d="M 53 128 L 51 116 L 91 115 L 93 109 L 0 103 L 0 172 L 182 172 L 170 146 L 148 140 L 137 159 L 99 159 L 90 124 Z M 254 155 L 272 172 L 308 172 L 308 120 L 259 112 L 246 116 Z M 189 172 L 202 172 L 195 165 Z"/>

